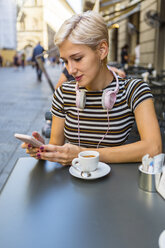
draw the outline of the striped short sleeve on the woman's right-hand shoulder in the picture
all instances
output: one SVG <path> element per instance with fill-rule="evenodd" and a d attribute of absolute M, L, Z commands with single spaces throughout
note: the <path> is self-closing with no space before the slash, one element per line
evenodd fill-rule
<path fill-rule="evenodd" d="M 131 79 L 127 82 L 127 102 L 132 112 L 144 100 L 153 98 L 151 89 L 146 82 L 140 79 Z"/>

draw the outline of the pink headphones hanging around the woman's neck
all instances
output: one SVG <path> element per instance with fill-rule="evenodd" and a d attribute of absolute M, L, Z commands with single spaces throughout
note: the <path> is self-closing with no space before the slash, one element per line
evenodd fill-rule
<path fill-rule="evenodd" d="M 110 68 L 108 67 L 110 70 Z M 119 91 L 119 80 L 112 70 L 110 70 L 113 76 L 116 79 L 116 88 L 114 91 L 112 90 L 104 90 L 102 95 L 102 106 L 104 109 L 111 110 L 116 102 L 116 95 Z M 78 109 L 84 109 L 86 102 L 86 91 L 79 90 L 78 83 L 76 84 L 76 106 Z"/>

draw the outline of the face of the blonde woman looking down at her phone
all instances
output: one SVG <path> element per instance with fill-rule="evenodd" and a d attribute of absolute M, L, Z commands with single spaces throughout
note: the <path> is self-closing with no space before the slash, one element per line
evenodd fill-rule
<path fill-rule="evenodd" d="M 100 74 L 99 51 L 86 45 L 77 45 L 65 40 L 60 46 L 60 56 L 79 86 L 93 89 Z"/>

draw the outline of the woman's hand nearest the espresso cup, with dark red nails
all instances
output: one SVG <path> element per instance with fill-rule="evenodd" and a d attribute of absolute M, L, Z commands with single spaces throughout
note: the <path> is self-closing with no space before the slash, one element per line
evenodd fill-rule
<path fill-rule="evenodd" d="M 72 144 L 65 144 L 63 146 L 57 145 L 43 145 L 37 153 L 37 157 L 51 162 L 58 162 L 62 165 L 71 165 L 72 160 L 78 156 L 82 150 L 79 146 Z"/>

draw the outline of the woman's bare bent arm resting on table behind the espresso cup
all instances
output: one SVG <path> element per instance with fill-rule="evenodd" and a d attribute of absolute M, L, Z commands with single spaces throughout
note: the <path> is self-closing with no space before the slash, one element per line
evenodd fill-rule
<path fill-rule="evenodd" d="M 151 157 L 162 152 L 161 134 L 152 99 L 135 109 L 140 141 L 118 147 L 98 149 L 100 160 L 107 163 L 140 162 L 145 154 Z"/>

